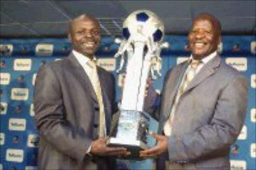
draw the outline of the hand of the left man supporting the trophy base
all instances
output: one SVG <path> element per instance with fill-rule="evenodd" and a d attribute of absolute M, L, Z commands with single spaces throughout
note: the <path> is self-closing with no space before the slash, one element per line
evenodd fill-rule
<path fill-rule="evenodd" d="M 127 155 L 127 149 L 125 147 L 107 147 L 107 137 L 100 137 L 91 144 L 91 153 L 99 156 L 116 155 L 122 156 Z"/>

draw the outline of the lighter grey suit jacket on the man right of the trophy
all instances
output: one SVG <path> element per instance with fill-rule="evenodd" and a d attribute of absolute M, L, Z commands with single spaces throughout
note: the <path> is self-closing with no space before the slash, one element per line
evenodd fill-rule
<path fill-rule="evenodd" d="M 164 77 L 159 115 L 159 133 L 169 117 L 173 100 L 188 62 L 168 70 Z M 244 123 L 248 100 L 245 76 L 217 55 L 207 62 L 180 96 L 168 137 L 171 168 L 230 168 L 229 146 Z"/>

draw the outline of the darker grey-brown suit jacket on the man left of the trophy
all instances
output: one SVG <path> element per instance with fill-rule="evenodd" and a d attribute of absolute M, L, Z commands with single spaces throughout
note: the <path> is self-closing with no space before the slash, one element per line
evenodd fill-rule
<path fill-rule="evenodd" d="M 100 67 L 98 74 L 109 133 L 114 77 Z M 41 66 L 34 86 L 34 110 L 40 134 L 39 169 L 102 169 L 114 165 L 108 157 L 94 156 L 91 161 L 85 156 L 98 137 L 99 105 L 87 74 L 72 53 Z"/>

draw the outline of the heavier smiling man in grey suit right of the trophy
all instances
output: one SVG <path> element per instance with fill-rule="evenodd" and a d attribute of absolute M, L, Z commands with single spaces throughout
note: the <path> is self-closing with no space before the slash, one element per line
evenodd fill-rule
<path fill-rule="evenodd" d="M 207 13 L 196 16 L 188 34 L 190 58 L 165 74 L 159 111 L 147 106 L 159 118 L 159 134 L 152 133 L 156 146 L 140 156 L 157 156 L 158 169 L 230 168 L 229 146 L 244 123 L 248 84 L 221 61 L 220 40 L 219 21 Z"/>

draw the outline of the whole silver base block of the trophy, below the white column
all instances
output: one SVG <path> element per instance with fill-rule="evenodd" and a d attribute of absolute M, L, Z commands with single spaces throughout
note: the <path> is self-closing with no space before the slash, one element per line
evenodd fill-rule
<path fill-rule="evenodd" d="M 110 135 L 107 145 L 110 147 L 125 147 L 128 151 L 123 159 L 141 159 L 139 151 L 148 148 L 147 131 L 149 117 L 144 112 L 136 110 L 121 110 L 115 134 Z"/>

